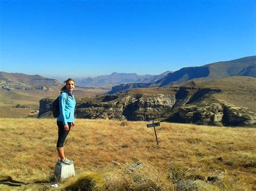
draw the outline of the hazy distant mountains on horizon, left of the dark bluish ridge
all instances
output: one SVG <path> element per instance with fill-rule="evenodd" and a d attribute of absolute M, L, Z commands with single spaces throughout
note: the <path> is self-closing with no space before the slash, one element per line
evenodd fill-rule
<path fill-rule="evenodd" d="M 78 87 L 93 87 L 93 88 L 107 88 L 116 86 L 122 83 L 133 82 L 155 82 L 163 79 L 167 74 L 172 73 L 166 71 L 159 75 L 138 75 L 136 73 L 116 73 L 110 75 L 99 75 L 97 77 L 76 78 L 74 77 Z M 62 77 L 51 79 L 42 77 L 40 75 L 26 75 L 22 73 L 6 73 L 0 72 L 0 84 L 4 88 L 14 89 L 33 89 L 38 87 L 56 87 L 63 86 L 63 81 L 66 80 Z"/>

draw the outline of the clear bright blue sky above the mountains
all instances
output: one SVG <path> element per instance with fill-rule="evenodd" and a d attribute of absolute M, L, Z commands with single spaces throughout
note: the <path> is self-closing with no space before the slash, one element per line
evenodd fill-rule
<path fill-rule="evenodd" d="M 0 70 L 160 74 L 255 55 L 255 1 L 0 1 Z"/>

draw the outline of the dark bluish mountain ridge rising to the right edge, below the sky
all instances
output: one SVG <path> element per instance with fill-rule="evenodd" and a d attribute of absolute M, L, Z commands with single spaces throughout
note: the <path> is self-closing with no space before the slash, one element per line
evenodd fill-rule
<path fill-rule="evenodd" d="M 230 76 L 256 77 L 256 56 L 220 61 L 200 67 L 185 67 L 176 72 L 169 73 L 163 79 L 153 83 L 130 83 L 112 87 L 110 94 L 132 88 L 163 87 L 181 84 L 190 80 L 217 80 Z"/>

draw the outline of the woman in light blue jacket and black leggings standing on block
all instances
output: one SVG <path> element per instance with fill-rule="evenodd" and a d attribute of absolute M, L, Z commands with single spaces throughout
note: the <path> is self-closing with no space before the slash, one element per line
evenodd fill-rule
<path fill-rule="evenodd" d="M 60 89 L 62 92 L 59 96 L 59 112 L 60 115 L 57 118 L 58 125 L 58 141 L 57 141 L 57 151 L 59 155 L 58 163 L 60 165 L 71 165 L 72 160 L 69 160 L 64 155 L 63 144 L 65 142 L 66 136 L 68 136 L 71 127 L 75 127 L 75 106 L 76 100 L 73 96 L 73 89 L 75 88 L 75 80 L 69 78 L 65 81 L 66 85 Z"/>

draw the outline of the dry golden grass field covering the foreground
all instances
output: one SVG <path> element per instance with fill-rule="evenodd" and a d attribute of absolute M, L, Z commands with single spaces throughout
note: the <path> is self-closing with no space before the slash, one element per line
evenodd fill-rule
<path fill-rule="evenodd" d="M 87 188 L 89 182 L 103 190 L 256 189 L 256 129 L 161 123 L 157 146 L 149 122 L 121 123 L 76 120 L 65 154 L 77 176 L 58 188 Z M 1 118 L 0 124 L 0 189 L 50 189 L 55 119 Z M 142 166 L 130 167 L 138 161 Z M 8 176 L 24 184 L 3 185 Z M 206 181 L 209 176 L 215 181 Z"/>

